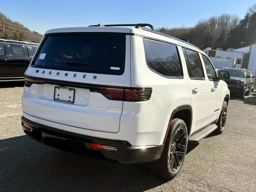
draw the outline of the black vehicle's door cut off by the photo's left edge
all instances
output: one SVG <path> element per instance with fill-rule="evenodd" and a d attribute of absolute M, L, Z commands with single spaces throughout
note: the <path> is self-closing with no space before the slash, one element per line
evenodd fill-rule
<path fill-rule="evenodd" d="M 8 52 L 5 47 L 5 43 L 0 42 L 0 80 L 9 77 Z"/>

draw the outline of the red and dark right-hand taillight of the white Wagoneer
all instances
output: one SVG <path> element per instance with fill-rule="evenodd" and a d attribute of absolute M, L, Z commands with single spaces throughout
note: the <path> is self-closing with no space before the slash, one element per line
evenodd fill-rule
<path fill-rule="evenodd" d="M 152 94 L 152 88 L 136 88 L 136 89 L 122 89 L 122 88 L 99 88 L 97 92 L 104 95 L 110 100 L 122 101 L 147 101 Z"/>

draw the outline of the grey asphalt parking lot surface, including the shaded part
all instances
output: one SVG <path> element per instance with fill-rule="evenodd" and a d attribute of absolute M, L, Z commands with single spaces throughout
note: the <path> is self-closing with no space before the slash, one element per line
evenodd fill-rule
<path fill-rule="evenodd" d="M 256 93 L 231 98 L 226 127 L 189 144 L 180 174 L 40 144 L 22 132 L 22 84 L 0 84 L 0 191 L 256 191 Z"/>

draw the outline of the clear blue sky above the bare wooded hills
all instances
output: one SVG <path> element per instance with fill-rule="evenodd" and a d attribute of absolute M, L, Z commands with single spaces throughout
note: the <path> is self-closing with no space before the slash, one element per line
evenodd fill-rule
<path fill-rule="evenodd" d="M 0 12 L 44 34 L 52 28 L 98 23 L 190 27 L 200 19 L 222 13 L 243 18 L 254 3 L 256 0 L 12 0 L 1 2 Z"/>

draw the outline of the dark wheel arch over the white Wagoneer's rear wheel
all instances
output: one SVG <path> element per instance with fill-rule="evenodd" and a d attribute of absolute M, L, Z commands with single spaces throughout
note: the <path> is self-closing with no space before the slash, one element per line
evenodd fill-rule
<path fill-rule="evenodd" d="M 191 126 L 192 126 L 192 115 L 193 115 L 193 112 L 192 112 L 192 107 L 190 105 L 181 105 L 181 106 L 176 107 L 172 111 L 170 121 L 168 124 L 168 128 L 166 130 L 166 134 L 164 137 L 163 144 L 166 142 L 166 138 L 168 136 L 169 129 L 170 129 L 171 120 L 173 120 L 174 118 L 180 118 L 180 119 L 184 120 L 184 122 L 186 123 L 186 126 L 187 126 L 188 135 L 189 135 Z"/>

